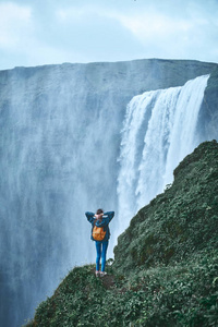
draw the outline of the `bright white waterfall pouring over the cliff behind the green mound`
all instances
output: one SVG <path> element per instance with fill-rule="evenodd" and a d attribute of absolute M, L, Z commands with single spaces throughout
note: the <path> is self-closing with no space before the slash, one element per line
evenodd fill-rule
<path fill-rule="evenodd" d="M 182 87 L 145 92 L 126 108 L 118 175 L 119 233 L 166 184 L 197 145 L 197 117 L 209 75 Z"/>

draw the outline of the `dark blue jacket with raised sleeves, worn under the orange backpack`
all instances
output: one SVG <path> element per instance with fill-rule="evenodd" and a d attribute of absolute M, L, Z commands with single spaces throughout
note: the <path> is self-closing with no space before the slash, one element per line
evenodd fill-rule
<path fill-rule="evenodd" d="M 94 228 L 94 221 L 96 220 L 96 218 L 94 217 L 95 214 L 94 213 L 85 213 L 87 220 L 92 223 L 93 228 Z M 110 239 L 110 229 L 109 229 L 109 222 L 111 221 L 111 219 L 114 216 L 114 211 L 108 211 L 108 213 L 104 213 L 102 216 L 102 221 L 97 220 L 96 221 L 96 226 L 97 227 L 104 227 L 104 229 L 106 230 L 106 235 L 105 239 L 102 241 L 96 241 L 96 242 L 106 242 Z M 92 228 L 92 233 L 90 233 L 90 240 L 95 241 L 93 239 L 93 228 Z"/>

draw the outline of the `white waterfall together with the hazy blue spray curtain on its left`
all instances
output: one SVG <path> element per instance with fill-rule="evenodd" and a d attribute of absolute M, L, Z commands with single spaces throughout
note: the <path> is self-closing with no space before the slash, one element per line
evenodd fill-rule
<path fill-rule="evenodd" d="M 116 211 L 110 257 L 116 235 L 171 182 L 173 168 L 198 143 L 195 126 L 208 76 L 134 97 L 120 147 L 126 94 L 119 98 L 111 82 L 106 87 L 108 71 L 101 75 L 97 69 L 87 78 L 83 69 L 14 71 L 1 84 L 0 325 L 5 327 L 31 318 L 73 266 L 95 261 L 84 211 L 99 206 Z M 99 94 L 93 76 L 95 83 L 102 78 Z"/>

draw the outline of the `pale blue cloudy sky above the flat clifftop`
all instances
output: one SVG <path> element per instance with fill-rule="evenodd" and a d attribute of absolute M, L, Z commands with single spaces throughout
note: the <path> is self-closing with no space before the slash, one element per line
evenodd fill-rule
<path fill-rule="evenodd" d="M 218 0 L 0 0 L 0 70 L 148 58 L 218 62 Z"/>

